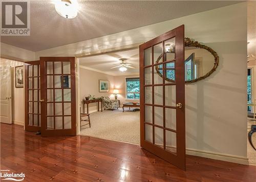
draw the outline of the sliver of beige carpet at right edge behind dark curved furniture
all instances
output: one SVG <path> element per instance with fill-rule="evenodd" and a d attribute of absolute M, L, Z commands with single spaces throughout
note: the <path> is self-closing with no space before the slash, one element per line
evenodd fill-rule
<path fill-rule="evenodd" d="M 252 118 L 247 118 L 247 123 L 248 123 L 247 132 L 249 132 L 251 130 L 251 125 L 256 124 L 256 120 Z M 252 135 L 252 143 L 254 144 L 254 146 L 256 146 L 255 133 Z M 256 151 L 250 145 L 248 138 L 247 138 L 247 157 L 249 159 L 250 165 L 256 165 Z"/>

